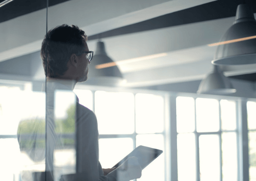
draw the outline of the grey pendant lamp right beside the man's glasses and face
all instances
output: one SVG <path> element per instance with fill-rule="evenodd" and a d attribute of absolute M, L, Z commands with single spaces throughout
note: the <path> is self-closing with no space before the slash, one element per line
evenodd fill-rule
<path fill-rule="evenodd" d="M 96 51 L 89 66 L 88 80 L 86 83 L 100 86 L 119 86 L 123 82 L 123 76 L 117 66 L 96 69 L 97 65 L 114 63 L 105 51 L 105 45 L 98 41 Z"/>

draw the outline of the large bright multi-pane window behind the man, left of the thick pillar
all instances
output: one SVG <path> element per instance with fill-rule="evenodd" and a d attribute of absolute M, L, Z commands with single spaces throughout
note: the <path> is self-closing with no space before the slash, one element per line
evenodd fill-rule
<path fill-rule="evenodd" d="M 20 86 L 1 86 L 0 92 L 1 95 L 6 95 L 0 97 L 0 145 L 5 148 L 0 150 L 0 180 L 19 181 L 20 167 L 23 167 L 24 171 L 33 170 L 32 172 L 45 170 L 44 157 L 33 160 L 30 158 L 31 155 L 27 154 L 26 147 L 20 150 L 17 142 L 17 127 L 20 121 L 28 132 L 35 120 L 41 121 L 42 132 L 45 131 L 45 94 L 31 90 L 23 91 L 20 90 Z M 84 89 L 75 89 L 74 92 L 82 105 L 96 113 L 99 128 L 99 159 L 103 168 L 113 167 L 135 147 L 144 145 L 164 152 L 143 170 L 143 176 L 138 180 L 165 181 L 166 135 L 162 95 Z M 12 101 L 9 100 L 10 96 Z M 75 172 L 73 129 L 66 129 L 64 125 L 65 120 L 72 116 L 69 110 L 73 109 L 74 102 L 72 92 L 55 92 L 55 129 L 57 134 L 64 135 L 62 142 L 65 146 L 55 149 L 53 153 L 54 167 L 62 168 L 55 170 L 57 179 L 62 174 Z M 13 114 L 13 110 L 16 114 Z M 154 172 L 154 175 L 151 172 Z"/>

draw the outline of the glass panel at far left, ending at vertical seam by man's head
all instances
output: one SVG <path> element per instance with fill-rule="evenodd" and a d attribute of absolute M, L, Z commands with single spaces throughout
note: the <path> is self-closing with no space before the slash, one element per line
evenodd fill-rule
<path fill-rule="evenodd" d="M 1 1 L 1 5 L 2 5 Z M 45 81 L 40 57 L 47 3 L 0 6 L 0 180 L 32 181 L 45 171 Z"/>

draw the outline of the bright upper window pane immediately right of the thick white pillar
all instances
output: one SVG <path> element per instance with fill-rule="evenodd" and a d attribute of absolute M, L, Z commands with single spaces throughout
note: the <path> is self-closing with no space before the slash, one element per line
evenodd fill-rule
<path fill-rule="evenodd" d="M 176 98 L 177 132 L 195 131 L 195 100 L 189 97 Z"/>

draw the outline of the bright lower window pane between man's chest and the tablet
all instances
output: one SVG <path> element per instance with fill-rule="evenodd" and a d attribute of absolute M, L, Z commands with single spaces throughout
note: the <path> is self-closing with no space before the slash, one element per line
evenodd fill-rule
<path fill-rule="evenodd" d="M 133 150 L 131 138 L 99 139 L 99 161 L 102 168 L 112 168 Z"/>

